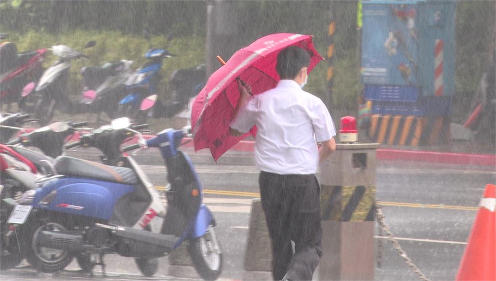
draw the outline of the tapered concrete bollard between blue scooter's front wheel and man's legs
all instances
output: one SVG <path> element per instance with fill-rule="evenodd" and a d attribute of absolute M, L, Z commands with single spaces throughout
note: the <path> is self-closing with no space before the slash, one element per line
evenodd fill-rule
<path fill-rule="evenodd" d="M 262 203 L 260 199 L 253 199 L 245 253 L 246 271 L 272 271 L 272 248 L 270 243 Z"/>

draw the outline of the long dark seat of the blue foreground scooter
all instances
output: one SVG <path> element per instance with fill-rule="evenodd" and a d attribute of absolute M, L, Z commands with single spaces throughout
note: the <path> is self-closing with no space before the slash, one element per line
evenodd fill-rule
<path fill-rule="evenodd" d="M 139 183 L 138 176 L 130 168 L 109 166 L 74 157 L 58 157 L 55 163 L 55 169 L 61 175 L 77 178 L 88 178 L 126 185 L 137 185 Z"/>

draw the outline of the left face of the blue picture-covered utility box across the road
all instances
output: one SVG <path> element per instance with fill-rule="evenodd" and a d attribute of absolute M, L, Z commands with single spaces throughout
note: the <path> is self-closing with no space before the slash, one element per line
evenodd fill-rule
<path fill-rule="evenodd" d="M 417 6 L 363 6 L 362 75 L 365 84 L 417 85 Z"/>

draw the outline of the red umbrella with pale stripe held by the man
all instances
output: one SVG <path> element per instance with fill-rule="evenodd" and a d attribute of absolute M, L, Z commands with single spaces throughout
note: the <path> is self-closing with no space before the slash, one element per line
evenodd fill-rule
<path fill-rule="evenodd" d="M 309 52 L 309 72 L 323 59 L 313 47 L 312 36 L 277 33 L 262 37 L 239 50 L 210 76 L 191 109 L 195 150 L 210 148 L 217 160 L 238 141 L 256 135 L 255 127 L 240 137 L 229 134 L 229 123 L 240 98 L 236 78 L 251 85 L 254 95 L 275 87 L 279 81 L 277 55 L 282 49 L 293 45 Z"/>

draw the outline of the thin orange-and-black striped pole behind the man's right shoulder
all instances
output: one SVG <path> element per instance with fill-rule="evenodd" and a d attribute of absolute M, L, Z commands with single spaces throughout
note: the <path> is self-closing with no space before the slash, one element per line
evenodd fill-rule
<path fill-rule="evenodd" d="M 332 108 L 332 91 L 334 84 L 334 30 L 336 22 L 334 20 L 335 1 L 329 1 L 329 26 L 327 28 L 327 95 L 325 105 L 327 109 Z"/>

